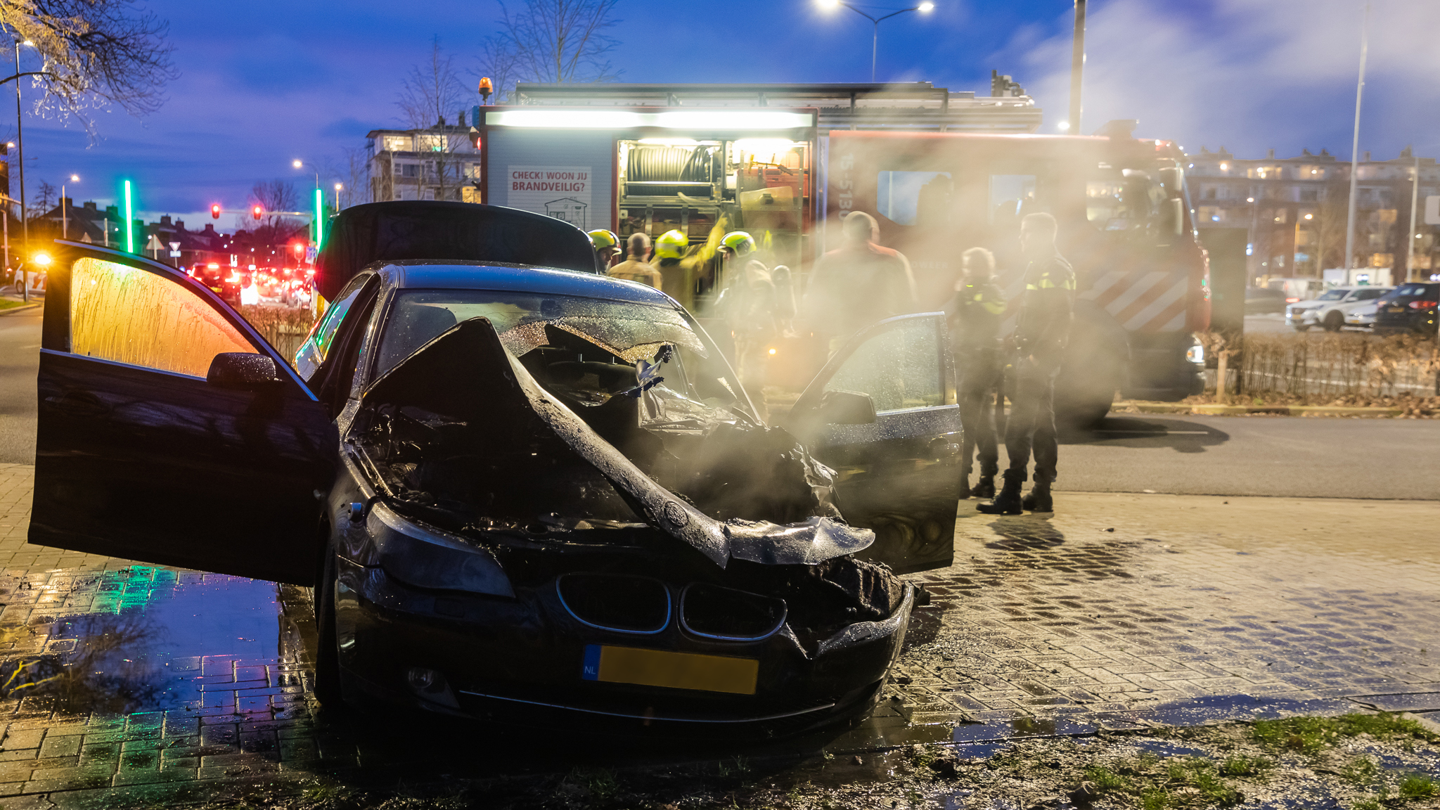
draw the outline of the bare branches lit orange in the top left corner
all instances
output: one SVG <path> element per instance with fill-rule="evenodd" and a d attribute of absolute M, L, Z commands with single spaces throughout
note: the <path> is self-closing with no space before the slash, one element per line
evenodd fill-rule
<path fill-rule="evenodd" d="M 45 91 L 36 94 L 37 112 L 73 115 L 94 135 L 91 107 L 145 115 L 164 104 L 161 88 L 180 75 L 168 23 L 134 7 L 134 0 L 0 0 L 0 30 L 12 45 L 32 43 L 42 59 L 22 62 Z"/>

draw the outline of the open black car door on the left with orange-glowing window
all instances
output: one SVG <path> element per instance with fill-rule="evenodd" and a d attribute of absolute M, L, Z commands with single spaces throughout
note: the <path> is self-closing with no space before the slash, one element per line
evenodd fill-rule
<path fill-rule="evenodd" d="M 141 257 L 60 244 L 32 543 L 310 584 L 337 447 L 315 396 L 209 288 Z"/>

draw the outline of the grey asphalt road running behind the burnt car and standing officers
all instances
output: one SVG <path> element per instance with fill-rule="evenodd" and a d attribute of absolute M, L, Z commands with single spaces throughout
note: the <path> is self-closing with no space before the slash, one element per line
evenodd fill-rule
<path fill-rule="evenodd" d="M 0 314 L 0 463 L 35 463 L 39 347 L 40 310 Z M 1056 489 L 1440 499 L 1440 419 L 1112 417 L 1063 438 Z"/>

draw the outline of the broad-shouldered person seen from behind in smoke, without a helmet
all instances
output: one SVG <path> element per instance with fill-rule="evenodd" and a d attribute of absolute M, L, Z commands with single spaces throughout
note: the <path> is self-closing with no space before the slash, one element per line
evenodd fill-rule
<path fill-rule="evenodd" d="M 804 316 L 829 337 L 831 353 L 861 329 L 916 310 L 914 275 L 899 251 L 876 244 L 880 226 L 863 210 L 841 223 L 844 242 L 815 262 Z"/>

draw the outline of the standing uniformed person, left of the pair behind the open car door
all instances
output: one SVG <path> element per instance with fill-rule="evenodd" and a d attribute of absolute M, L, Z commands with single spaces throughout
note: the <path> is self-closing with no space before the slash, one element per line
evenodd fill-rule
<path fill-rule="evenodd" d="M 955 285 L 955 300 L 946 307 L 960 385 L 960 497 L 995 497 L 995 473 L 999 448 L 995 418 L 989 408 L 999 389 L 999 324 L 1005 316 L 1005 297 L 995 285 L 995 255 L 985 248 L 971 248 L 960 255 L 962 278 Z M 981 479 L 971 489 L 973 455 L 979 450 Z"/>

